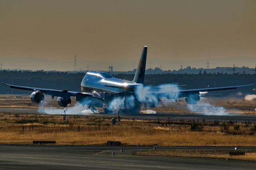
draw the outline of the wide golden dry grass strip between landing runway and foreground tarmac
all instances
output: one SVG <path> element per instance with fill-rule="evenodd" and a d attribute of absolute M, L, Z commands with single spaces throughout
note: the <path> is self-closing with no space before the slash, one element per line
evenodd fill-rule
<path fill-rule="evenodd" d="M 127 145 L 159 146 L 255 146 L 251 124 L 233 125 L 224 131 L 216 123 L 206 123 L 200 132 L 190 130 L 191 122 L 122 120 L 111 125 L 109 118 L 85 115 L 4 114 L 0 113 L 0 143 L 32 143 L 56 140 L 57 144 L 105 144 L 119 140 Z M 216 124 L 216 125 L 215 125 Z"/>

